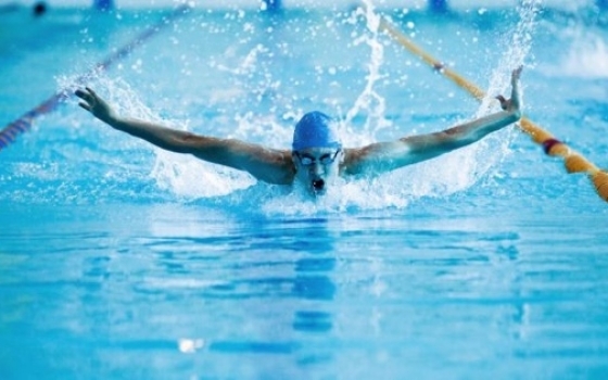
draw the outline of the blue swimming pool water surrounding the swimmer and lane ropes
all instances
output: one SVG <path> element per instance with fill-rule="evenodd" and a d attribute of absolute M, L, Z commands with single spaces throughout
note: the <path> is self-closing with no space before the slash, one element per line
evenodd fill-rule
<path fill-rule="evenodd" d="M 2 15 L 1 123 L 168 12 Z M 527 115 L 606 166 L 591 10 L 376 12 L 490 93 L 523 62 Z M 312 109 L 349 119 L 347 145 L 487 112 L 349 9 L 194 9 L 87 84 L 134 116 L 277 148 Z M 2 378 L 608 373 L 608 207 L 515 128 L 317 203 L 152 149 L 74 99 L 0 163 Z"/>

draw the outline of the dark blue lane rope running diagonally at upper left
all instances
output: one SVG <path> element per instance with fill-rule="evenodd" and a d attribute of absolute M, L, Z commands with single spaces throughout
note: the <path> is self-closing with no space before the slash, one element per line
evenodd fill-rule
<path fill-rule="evenodd" d="M 77 77 L 75 83 L 81 85 L 86 83 L 87 79 L 90 78 L 96 73 L 106 69 L 114 62 L 128 55 L 135 48 L 145 42 L 156 33 L 159 33 L 166 26 L 172 25 L 177 18 L 186 15 L 190 9 L 191 7 L 188 4 L 181 4 L 180 7 L 176 8 L 172 13 L 164 16 L 159 23 L 149 27 L 139 36 L 137 36 L 131 41 L 126 43 L 124 47 L 115 51 L 113 54 L 109 55 L 105 60 L 98 63 L 88 73 Z M 53 112 L 67 98 L 68 94 L 66 94 L 64 91 L 56 92 L 53 96 L 51 96 L 49 99 L 40 103 L 38 106 L 29 110 L 28 112 L 23 114 L 20 118 L 5 126 L 2 130 L 0 130 L 0 151 L 5 148 L 9 148 L 9 145 L 12 144 L 20 135 L 25 134 L 26 131 L 31 129 L 33 123 L 38 116 Z"/>

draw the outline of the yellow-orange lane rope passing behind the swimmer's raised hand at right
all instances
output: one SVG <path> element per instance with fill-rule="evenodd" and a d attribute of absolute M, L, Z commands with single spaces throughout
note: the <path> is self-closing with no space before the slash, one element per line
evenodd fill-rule
<path fill-rule="evenodd" d="M 432 55 L 422 50 L 419 46 L 414 43 L 411 39 L 405 36 L 401 30 L 390 24 L 385 17 L 380 17 L 379 30 L 389 34 L 397 43 L 407 49 L 414 55 L 421 59 L 425 63 L 433 67 L 454 81 L 458 87 L 465 89 L 473 98 L 481 101 L 485 97 L 485 92 L 467 80 L 458 73 L 449 67 L 446 67 L 441 61 L 434 59 Z M 585 159 L 582 154 L 574 151 L 566 143 L 554 137 L 547 130 L 541 128 L 528 117 L 523 116 L 518 123 L 519 129 L 530 136 L 530 138 L 543 148 L 547 155 L 558 156 L 563 159 L 563 165 L 568 173 L 585 173 L 592 181 L 597 194 L 608 202 L 608 173 L 598 168 L 595 164 Z"/>

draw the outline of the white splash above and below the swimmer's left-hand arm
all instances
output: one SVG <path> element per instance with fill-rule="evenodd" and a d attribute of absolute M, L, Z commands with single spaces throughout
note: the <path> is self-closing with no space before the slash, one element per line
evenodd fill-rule
<path fill-rule="evenodd" d="M 73 91 L 73 81 L 68 77 L 59 79 L 60 88 L 66 91 Z M 190 123 L 181 119 L 163 118 L 156 111 L 148 106 L 140 94 L 135 91 L 129 83 L 121 77 L 110 78 L 103 73 L 99 73 L 96 77 L 91 77 L 88 86 L 93 88 L 102 98 L 104 98 L 119 115 L 140 118 L 160 125 L 178 129 L 189 130 Z M 69 90 L 67 90 L 69 89 Z M 72 101 L 75 106 L 77 100 Z M 87 117 L 91 117 L 87 115 Z M 92 122 L 91 123 L 99 123 Z M 89 128 L 87 123 L 86 128 Z M 116 170 L 116 159 L 112 157 L 119 154 L 124 163 L 122 166 L 128 168 L 130 163 L 137 162 L 138 157 L 151 157 L 153 164 L 147 165 L 149 172 L 143 174 L 149 180 L 152 180 L 157 189 L 167 191 L 175 197 L 191 198 L 208 198 L 226 195 L 232 191 L 252 186 L 255 181 L 251 176 L 230 168 L 212 165 L 201 162 L 190 155 L 177 154 L 164 151 L 160 148 L 145 144 L 124 134 L 116 132 L 110 127 L 100 128 L 99 132 L 103 136 L 100 141 L 100 150 L 103 152 L 96 153 L 88 161 L 97 161 L 98 166 L 105 166 L 104 177 L 114 177 Z M 149 161 L 149 160 L 147 160 Z M 144 172 L 143 168 L 140 168 Z M 137 176 L 135 170 L 127 170 L 123 176 L 132 176 L 132 194 L 137 194 L 137 188 L 141 186 L 145 178 Z M 127 195 L 128 195 L 127 191 Z"/>

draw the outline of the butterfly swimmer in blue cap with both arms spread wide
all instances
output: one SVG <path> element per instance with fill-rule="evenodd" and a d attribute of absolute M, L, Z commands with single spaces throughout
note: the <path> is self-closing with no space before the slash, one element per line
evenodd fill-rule
<path fill-rule="evenodd" d="M 236 139 L 194 135 L 159 124 L 122 117 L 92 89 L 76 90 L 79 105 L 114 129 L 143 139 L 159 148 L 188 153 L 218 165 L 251 174 L 258 180 L 301 186 L 309 194 L 326 193 L 339 177 L 379 175 L 436 157 L 479 141 L 521 117 L 519 78 L 511 73 L 511 96 L 499 96 L 503 111 L 455 127 L 360 148 L 344 148 L 335 122 L 321 112 L 305 114 L 295 125 L 291 150 L 278 150 Z"/>

